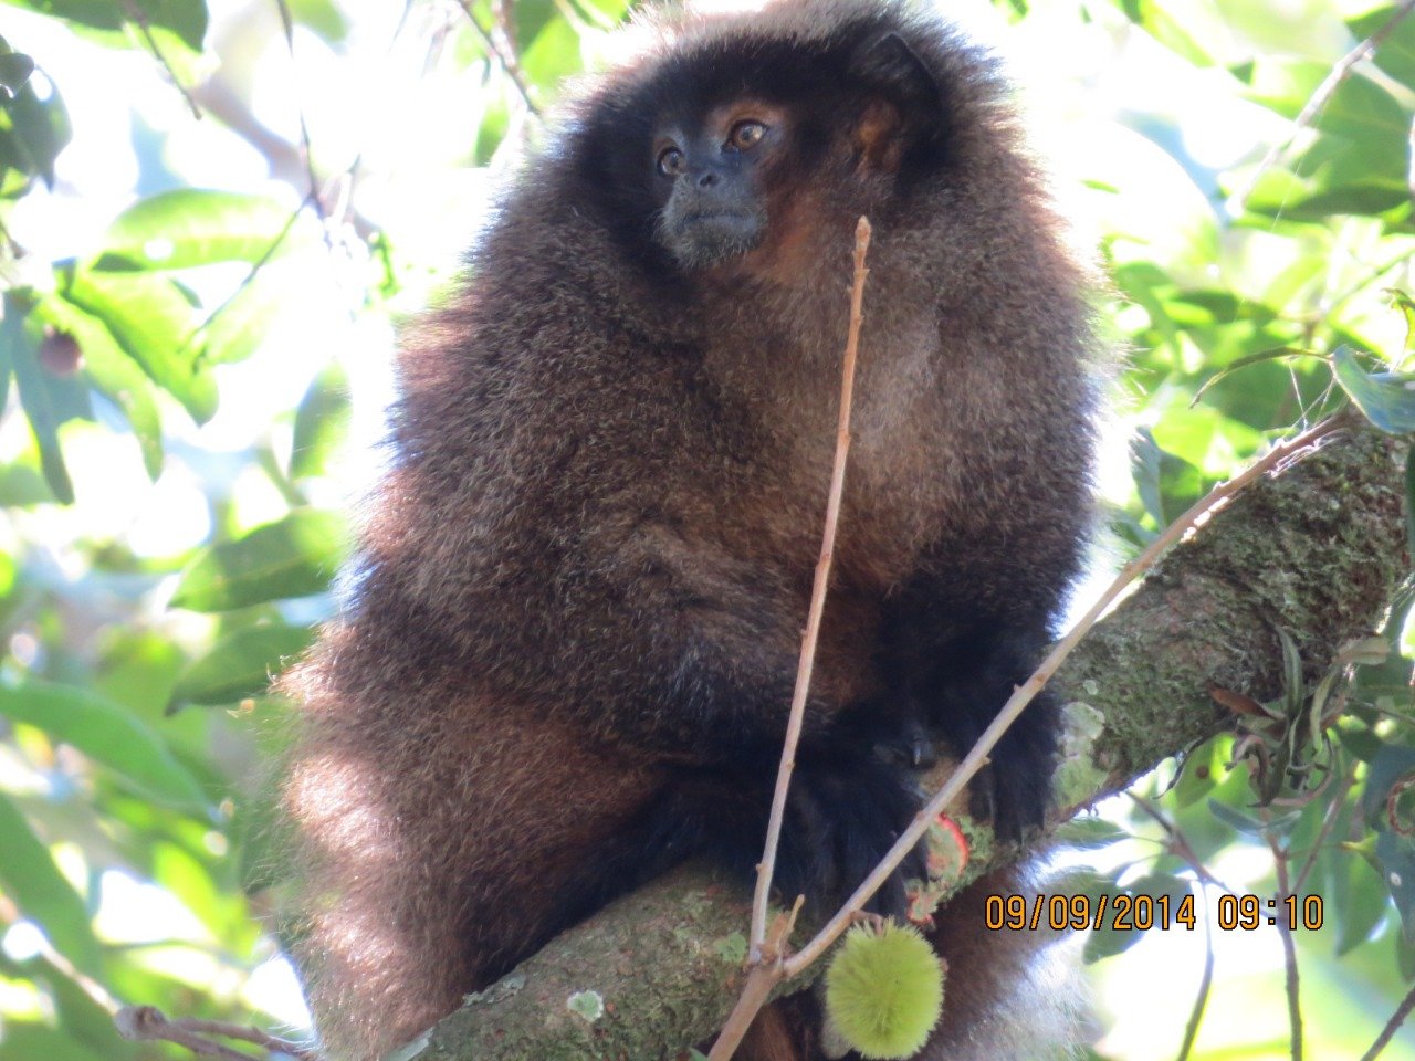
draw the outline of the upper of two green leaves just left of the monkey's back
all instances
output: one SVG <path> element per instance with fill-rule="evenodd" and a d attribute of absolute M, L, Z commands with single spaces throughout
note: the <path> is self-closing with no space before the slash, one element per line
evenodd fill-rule
<path fill-rule="evenodd" d="M 296 509 L 233 542 L 208 546 L 183 572 L 173 607 L 226 611 L 323 593 L 347 549 L 335 512 Z"/>

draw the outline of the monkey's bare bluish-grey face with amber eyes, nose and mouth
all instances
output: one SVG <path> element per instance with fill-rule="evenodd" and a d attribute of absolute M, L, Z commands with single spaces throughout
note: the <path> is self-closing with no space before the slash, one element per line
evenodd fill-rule
<path fill-rule="evenodd" d="M 756 249 L 767 233 L 764 188 L 788 140 L 788 112 L 758 100 L 666 123 L 654 137 L 655 191 L 664 204 L 655 239 L 685 269 Z"/>

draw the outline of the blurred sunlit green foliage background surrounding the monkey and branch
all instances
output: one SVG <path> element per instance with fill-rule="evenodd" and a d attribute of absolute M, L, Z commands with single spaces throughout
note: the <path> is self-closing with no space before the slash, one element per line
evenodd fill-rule
<path fill-rule="evenodd" d="M 1415 429 L 1411 7 L 947 4 L 1114 277 L 1097 579 L 1344 402 Z M 122 1041 L 125 1003 L 300 1033 L 260 921 L 262 692 L 334 607 L 395 323 L 624 8 L 0 3 L 0 1061 L 184 1055 Z M 1262 709 L 1303 720 L 1292 770 L 1249 770 L 1252 726 L 1071 828 L 1078 887 L 1197 910 L 1085 942 L 1095 1057 L 1289 1057 L 1282 941 L 1218 901 L 1279 874 L 1322 898 L 1307 1057 L 1361 1057 L 1411 997 L 1409 604 Z"/>

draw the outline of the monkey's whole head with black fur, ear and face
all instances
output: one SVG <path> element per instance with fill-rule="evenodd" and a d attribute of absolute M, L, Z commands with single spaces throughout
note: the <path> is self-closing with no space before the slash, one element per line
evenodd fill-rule
<path fill-rule="evenodd" d="M 883 27 L 712 41 L 689 38 L 589 100 L 574 194 L 655 279 L 672 265 L 809 284 L 848 253 L 860 214 L 938 173 L 945 92 Z"/>

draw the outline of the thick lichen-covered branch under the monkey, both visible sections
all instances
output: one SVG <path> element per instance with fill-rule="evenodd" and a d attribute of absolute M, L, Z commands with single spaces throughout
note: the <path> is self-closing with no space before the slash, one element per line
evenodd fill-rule
<path fill-rule="evenodd" d="M 1215 514 L 1097 625 L 1054 679 L 1073 720 L 1061 805 L 1121 788 L 1223 729 L 1230 716 L 1211 686 L 1276 696 L 1278 630 L 1316 678 L 1343 644 L 1378 627 L 1408 570 L 1402 456 L 1374 430 L 1337 434 Z M 686 1057 L 741 987 L 747 918 L 746 883 L 679 870 L 468 999 L 417 1057 Z"/>

